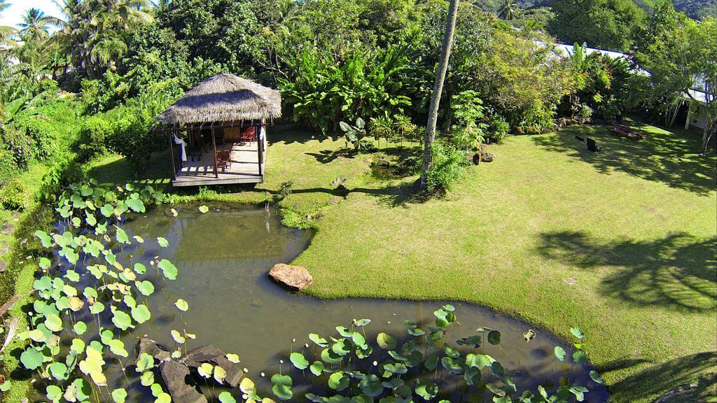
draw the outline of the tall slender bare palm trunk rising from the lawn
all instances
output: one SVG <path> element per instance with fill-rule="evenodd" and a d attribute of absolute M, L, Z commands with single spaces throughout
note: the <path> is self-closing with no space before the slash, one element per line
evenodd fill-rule
<path fill-rule="evenodd" d="M 428 110 L 428 125 L 426 136 L 423 143 L 423 172 L 421 174 L 421 187 L 425 189 L 427 173 L 433 166 L 432 145 L 436 138 L 436 123 L 438 120 L 438 106 L 443 91 L 443 82 L 445 81 L 446 72 L 448 70 L 448 59 L 450 58 L 450 48 L 453 44 L 453 33 L 455 32 L 455 20 L 458 15 L 458 5 L 460 0 L 450 0 L 448 6 L 448 20 L 446 24 L 446 32 L 443 37 L 443 46 L 441 48 L 441 58 L 438 62 L 438 72 L 436 80 L 433 84 L 433 93 L 431 94 L 431 105 Z"/>

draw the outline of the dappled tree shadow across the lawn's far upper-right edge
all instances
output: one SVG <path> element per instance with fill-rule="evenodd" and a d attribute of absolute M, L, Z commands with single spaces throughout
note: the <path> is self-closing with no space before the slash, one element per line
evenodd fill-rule
<path fill-rule="evenodd" d="M 695 133 L 678 130 L 655 133 L 655 129 L 647 125 L 635 125 L 635 128 L 647 137 L 628 141 L 612 136 L 607 125 L 576 125 L 551 136 L 534 136 L 532 139 L 549 151 L 580 158 L 603 174 L 623 171 L 701 195 L 717 189 L 717 158 L 714 154 L 698 154 L 701 138 Z M 596 138 L 602 151 L 588 151 L 575 136 Z"/>

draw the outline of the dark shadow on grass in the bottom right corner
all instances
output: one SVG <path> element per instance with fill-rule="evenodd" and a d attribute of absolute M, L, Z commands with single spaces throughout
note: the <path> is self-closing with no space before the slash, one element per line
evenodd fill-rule
<path fill-rule="evenodd" d="M 624 366 L 622 361 L 624 360 L 617 361 L 617 365 L 609 362 L 599 366 L 598 371 L 607 374 L 615 369 L 625 369 L 646 362 L 629 360 L 634 362 Z M 610 397 L 619 402 L 630 402 L 663 394 L 680 385 L 693 384 L 695 387 L 683 388 L 684 390 L 669 402 L 707 402 L 717 392 L 716 367 L 717 353 L 714 351 L 682 356 L 663 364 L 649 366 L 617 381 L 610 387 Z"/>

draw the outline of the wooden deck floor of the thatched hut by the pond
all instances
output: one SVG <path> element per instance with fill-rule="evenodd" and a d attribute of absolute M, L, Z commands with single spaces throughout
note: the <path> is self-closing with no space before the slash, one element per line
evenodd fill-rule
<path fill-rule="evenodd" d="M 176 172 L 172 180 L 174 186 L 200 186 L 219 184 L 257 184 L 264 181 L 264 166 L 259 166 L 259 154 L 257 153 L 257 142 L 251 143 L 227 143 L 224 146 L 217 145 L 219 149 L 231 150 L 231 166 L 219 169 L 219 174 L 214 173 L 214 150 L 207 147 L 208 152 L 199 155 L 187 156 L 187 161 L 182 164 L 181 169 Z M 262 160 L 264 160 L 262 156 Z"/>

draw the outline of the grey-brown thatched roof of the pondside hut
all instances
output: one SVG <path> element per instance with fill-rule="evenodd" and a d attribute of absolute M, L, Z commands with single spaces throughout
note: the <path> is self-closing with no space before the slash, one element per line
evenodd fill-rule
<path fill-rule="evenodd" d="M 279 91 L 233 74 L 220 73 L 197 84 L 156 117 L 181 125 L 236 120 L 272 120 L 281 116 Z"/>

